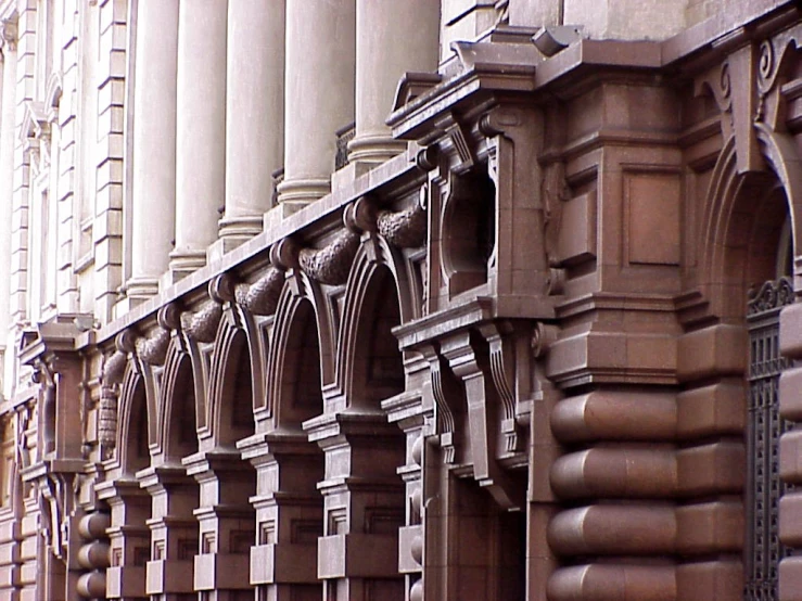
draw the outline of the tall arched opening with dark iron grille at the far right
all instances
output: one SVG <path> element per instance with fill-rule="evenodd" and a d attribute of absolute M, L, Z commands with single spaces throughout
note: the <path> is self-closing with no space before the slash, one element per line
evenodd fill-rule
<path fill-rule="evenodd" d="M 791 362 L 779 353 L 779 314 L 793 302 L 792 240 L 788 201 L 776 181 L 746 183 L 751 203 L 741 218 L 750 223 L 743 276 L 749 286 L 746 324 L 747 488 L 744 495 L 744 600 L 778 598 L 779 561 L 788 554 L 779 539 L 779 439 L 790 427 L 779 414 L 779 378 Z"/>

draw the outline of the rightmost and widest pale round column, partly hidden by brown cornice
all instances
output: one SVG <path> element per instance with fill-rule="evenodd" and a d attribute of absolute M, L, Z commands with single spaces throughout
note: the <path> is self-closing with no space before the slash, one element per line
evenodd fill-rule
<path fill-rule="evenodd" d="M 440 2 L 356 0 L 356 135 L 349 161 L 381 163 L 402 151 L 384 119 L 406 72 L 437 68 Z"/>

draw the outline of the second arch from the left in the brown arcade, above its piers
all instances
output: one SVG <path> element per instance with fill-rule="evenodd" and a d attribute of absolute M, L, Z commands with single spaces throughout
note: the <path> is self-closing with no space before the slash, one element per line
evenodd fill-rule
<path fill-rule="evenodd" d="M 202 394 L 192 361 L 174 337 L 167 347 L 158 394 L 156 446 L 167 461 L 180 461 L 198 450 L 198 415 L 203 408 L 199 395 Z"/>

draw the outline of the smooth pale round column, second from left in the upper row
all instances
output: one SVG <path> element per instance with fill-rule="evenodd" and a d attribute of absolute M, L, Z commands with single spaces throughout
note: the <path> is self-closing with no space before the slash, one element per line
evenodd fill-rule
<path fill-rule="evenodd" d="M 174 279 L 206 264 L 225 203 L 227 12 L 227 0 L 180 2 Z"/>

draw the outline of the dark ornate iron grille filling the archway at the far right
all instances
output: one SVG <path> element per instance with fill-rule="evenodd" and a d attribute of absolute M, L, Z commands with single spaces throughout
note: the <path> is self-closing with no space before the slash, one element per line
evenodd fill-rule
<path fill-rule="evenodd" d="M 779 540 L 779 437 L 790 423 L 779 417 L 779 375 L 790 361 L 779 354 L 779 312 L 793 302 L 788 278 L 766 282 L 747 307 L 749 329 L 749 425 L 747 440 L 748 533 L 746 601 L 776 601 L 777 570 L 788 554 Z"/>

